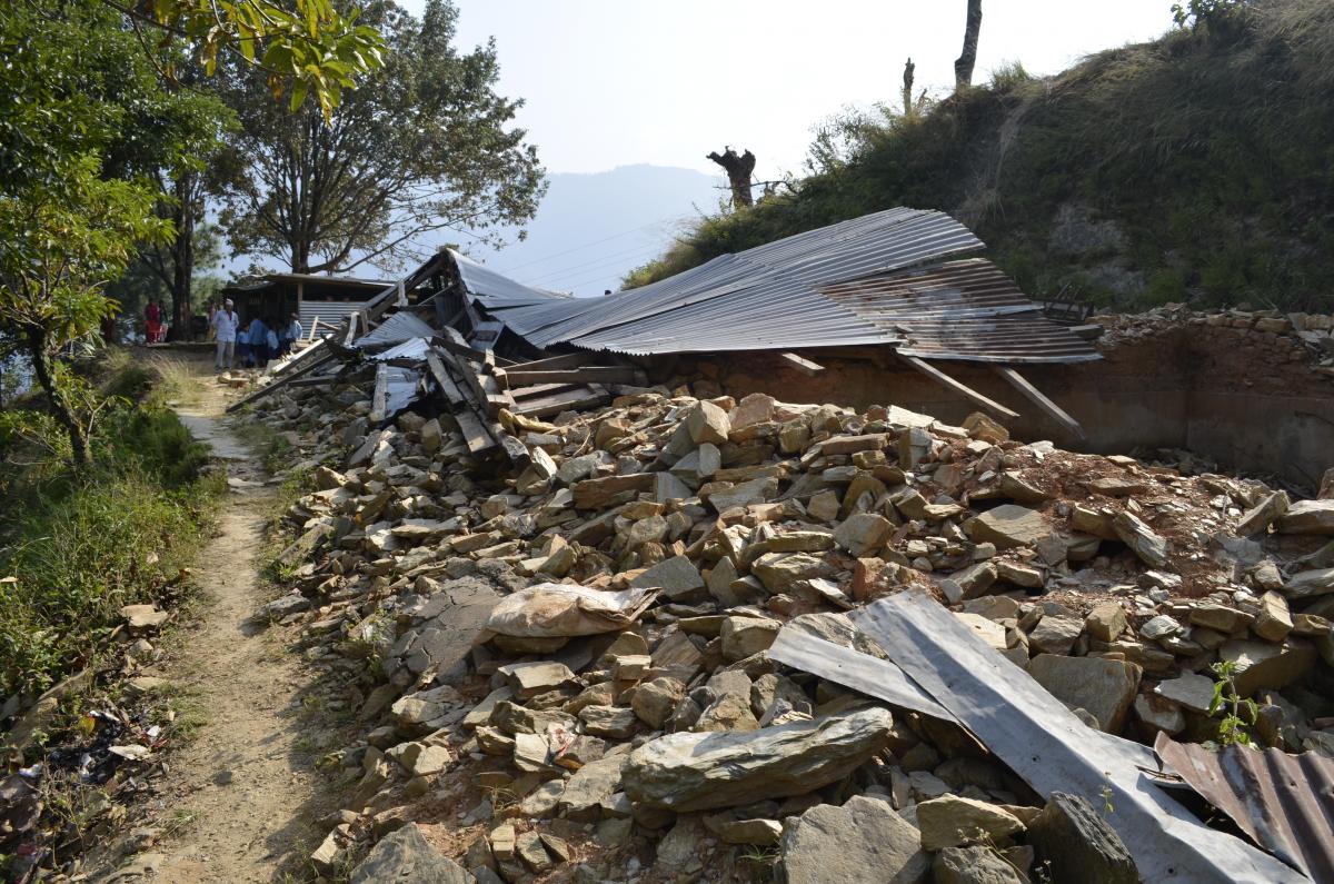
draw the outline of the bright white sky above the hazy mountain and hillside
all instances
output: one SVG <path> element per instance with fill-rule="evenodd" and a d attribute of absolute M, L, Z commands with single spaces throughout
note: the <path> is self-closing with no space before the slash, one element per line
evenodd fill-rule
<path fill-rule="evenodd" d="M 423 0 L 400 0 L 420 12 Z M 750 148 L 756 175 L 799 171 L 814 123 L 894 100 L 903 60 L 944 92 L 964 0 L 456 0 L 460 44 L 496 37 L 500 89 L 554 172 L 631 163 L 716 171 Z M 986 0 L 974 80 L 1005 61 L 1054 73 L 1151 39 L 1169 0 Z"/>

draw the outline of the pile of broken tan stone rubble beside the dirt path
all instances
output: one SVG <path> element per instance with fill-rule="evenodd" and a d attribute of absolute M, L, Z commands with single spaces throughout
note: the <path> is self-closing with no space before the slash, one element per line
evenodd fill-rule
<path fill-rule="evenodd" d="M 312 856 L 375 845 L 354 881 L 1138 880 L 1097 796 L 766 654 L 874 654 L 843 612 L 902 592 L 1090 728 L 1218 738 L 1227 661 L 1257 742 L 1334 754 L 1334 499 L 767 395 L 503 414 L 522 473 L 355 386 L 256 409 L 317 489 L 260 616 L 363 725 Z"/>

